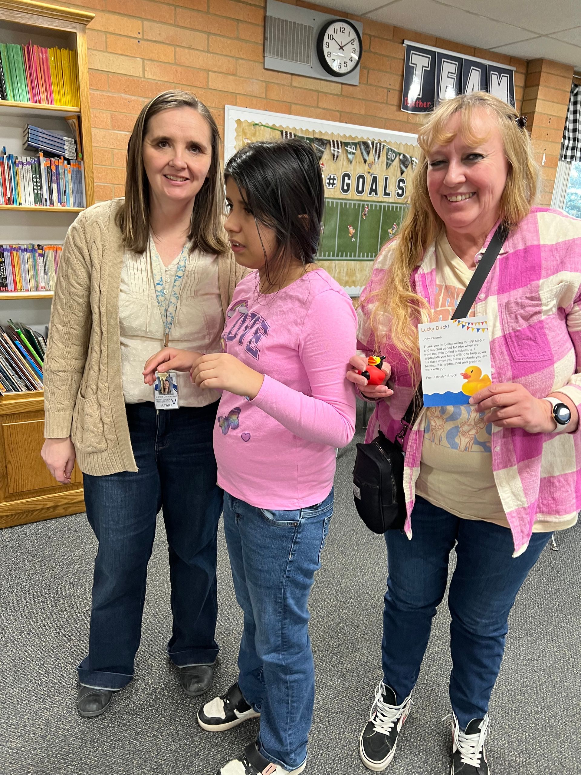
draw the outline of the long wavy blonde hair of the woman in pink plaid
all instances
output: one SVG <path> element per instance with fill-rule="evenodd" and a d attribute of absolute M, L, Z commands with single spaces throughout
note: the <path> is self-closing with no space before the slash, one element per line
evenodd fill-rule
<path fill-rule="evenodd" d="M 486 140 L 473 129 L 475 110 L 486 110 L 497 119 L 504 153 L 509 164 L 507 182 L 500 198 L 500 220 L 516 226 L 531 210 L 537 195 L 540 171 L 528 132 L 517 124 L 517 111 L 493 95 L 477 91 L 458 95 L 441 102 L 418 132 L 420 153 L 411 181 L 410 206 L 397 237 L 394 239 L 390 266 L 383 288 L 362 299 L 371 304 L 370 325 L 375 335 L 376 348 L 381 349 L 385 339 L 386 315 L 390 319 L 390 340 L 407 361 L 411 374 L 418 373 L 418 328 L 422 315 L 431 315 L 424 298 L 411 288 L 410 276 L 428 246 L 444 230 L 444 223 L 431 205 L 428 195 L 428 153 L 435 146 L 450 143 L 455 133 L 446 124 L 460 112 L 459 133 L 470 146 Z M 429 319 L 429 317 L 428 317 Z M 382 330 L 383 329 L 383 330 Z"/>

